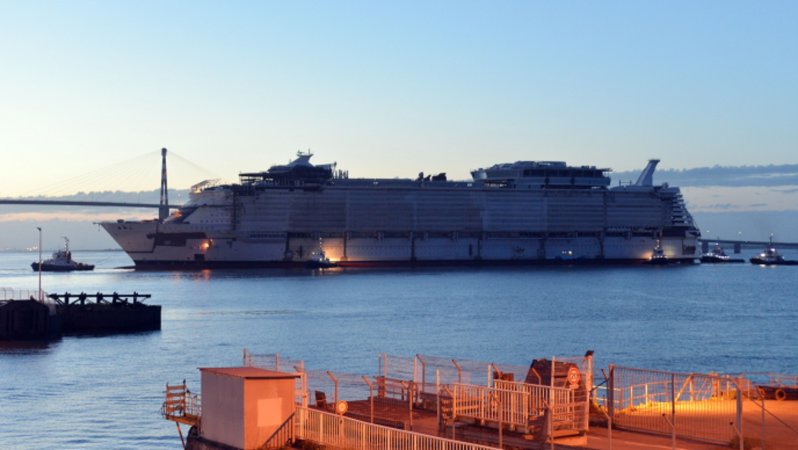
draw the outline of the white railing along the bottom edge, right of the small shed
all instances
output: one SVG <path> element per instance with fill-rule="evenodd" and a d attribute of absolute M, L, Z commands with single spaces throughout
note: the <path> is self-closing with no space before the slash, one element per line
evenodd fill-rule
<path fill-rule="evenodd" d="M 495 447 L 383 427 L 316 409 L 297 407 L 296 436 L 322 446 L 361 450 L 497 450 Z"/>

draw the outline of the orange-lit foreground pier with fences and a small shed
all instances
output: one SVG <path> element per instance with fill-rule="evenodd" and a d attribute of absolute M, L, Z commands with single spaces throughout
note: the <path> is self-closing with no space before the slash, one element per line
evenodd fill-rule
<path fill-rule="evenodd" d="M 192 427 L 189 449 L 675 448 L 678 441 L 681 449 L 743 450 L 798 440 L 798 408 L 766 398 L 760 384 L 798 377 L 610 365 L 594 381 L 592 352 L 530 366 L 383 354 L 375 374 L 358 375 L 245 350 L 240 367 L 200 371 L 201 394 L 185 382 L 167 384 L 162 408 L 181 439 L 180 425 Z M 259 390 L 271 394 L 259 398 Z M 230 408 L 235 416 L 222 414 Z"/>

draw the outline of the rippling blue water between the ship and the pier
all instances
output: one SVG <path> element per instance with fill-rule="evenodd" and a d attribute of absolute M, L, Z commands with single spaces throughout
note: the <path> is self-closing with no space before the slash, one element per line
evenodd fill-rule
<path fill-rule="evenodd" d="M 750 256 L 750 255 L 744 255 Z M 166 382 L 244 347 L 309 368 L 373 374 L 377 354 L 527 365 L 596 351 L 598 367 L 798 373 L 798 267 L 134 272 L 78 252 L 89 273 L 49 292 L 152 294 L 160 332 L 0 344 L 0 448 L 180 448 L 159 416 Z M 36 289 L 29 253 L 0 254 L 0 286 Z"/>

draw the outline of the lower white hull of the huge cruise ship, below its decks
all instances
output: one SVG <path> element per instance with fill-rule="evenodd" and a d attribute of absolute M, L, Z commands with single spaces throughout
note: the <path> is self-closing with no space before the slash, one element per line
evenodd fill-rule
<path fill-rule="evenodd" d="M 109 225 L 105 225 L 106 229 Z M 122 242 L 139 268 L 164 267 L 243 267 L 303 266 L 310 260 L 316 241 L 287 238 L 261 242 L 233 240 L 229 237 L 189 239 L 183 247 L 152 246 L 152 240 L 132 232 L 111 233 Z M 138 240 L 133 245 L 132 243 Z M 212 241 L 205 248 L 206 242 Z M 327 238 L 324 252 L 339 266 L 378 266 L 441 263 L 629 263 L 645 262 L 657 239 L 630 238 Z M 141 245 L 140 245 L 141 244 Z M 140 249 L 149 244 L 148 250 Z M 692 262 L 694 239 L 661 239 L 668 259 Z M 288 248 L 288 252 L 286 252 Z"/>

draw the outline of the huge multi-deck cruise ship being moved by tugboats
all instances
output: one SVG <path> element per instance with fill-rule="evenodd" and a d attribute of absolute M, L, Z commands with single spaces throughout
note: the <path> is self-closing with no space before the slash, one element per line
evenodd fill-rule
<path fill-rule="evenodd" d="M 468 181 L 349 178 L 299 153 L 286 165 L 204 181 L 163 220 L 101 225 L 138 269 L 635 263 L 655 246 L 693 262 L 700 233 L 677 187 L 654 185 L 659 160 L 636 182 L 609 169 L 518 161 Z"/>

